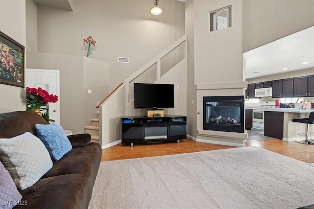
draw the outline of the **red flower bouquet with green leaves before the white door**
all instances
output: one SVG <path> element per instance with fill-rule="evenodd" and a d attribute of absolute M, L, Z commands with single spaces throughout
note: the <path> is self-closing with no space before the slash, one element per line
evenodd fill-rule
<path fill-rule="evenodd" d="M 45 109 L 41 108 L 46 106 L 49 102 L 55 103 L 58 101 L 58 96 L 49 94 L 42 88 L 29 88 L 26 87 L 26 109 Z"/>

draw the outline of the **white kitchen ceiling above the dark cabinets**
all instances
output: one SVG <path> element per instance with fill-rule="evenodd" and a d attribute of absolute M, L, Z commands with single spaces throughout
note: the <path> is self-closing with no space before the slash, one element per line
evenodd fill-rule
<path fill-rule="evenodd" d="M 314 26 L 247 51 L 243 57 L 246 79 L 314 68 Z"/>

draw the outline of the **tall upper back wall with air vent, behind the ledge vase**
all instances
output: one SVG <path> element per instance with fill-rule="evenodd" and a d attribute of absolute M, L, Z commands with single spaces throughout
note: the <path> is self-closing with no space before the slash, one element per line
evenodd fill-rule
<path fill-rule="evenodd" d="M 76 0 L 73 12 L 38 6 L 38 51 L 85 56 L 83 38 L 93 36 L 93 58 L 110 64 L 113 90 L 184 34 L 184 2 L 159 6 L 158 16 L 150 13 L 152 0 Z M 130 63 L 118 63 L 118 57 Z"/>

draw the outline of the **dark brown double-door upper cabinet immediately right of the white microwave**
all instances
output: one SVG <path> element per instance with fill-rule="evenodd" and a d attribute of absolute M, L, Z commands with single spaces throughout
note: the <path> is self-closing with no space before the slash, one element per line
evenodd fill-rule
<path fill-rule="evenodd" d="M 273 98 L 293 97 L 293 78 L 272 81 Z"/>

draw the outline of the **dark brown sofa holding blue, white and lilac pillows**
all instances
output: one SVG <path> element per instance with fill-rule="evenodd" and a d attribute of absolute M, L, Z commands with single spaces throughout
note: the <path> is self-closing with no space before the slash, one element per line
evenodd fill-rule
<path fill-rule="evenodd" d="M 32 111 L 0 114 L 0 137 L 12 138 L 25 132 L 36 135 L 35 124 L 47 121 Z M 68 136 L 73 149 L 33 186 L 20 193 L 29 209 L 87 209 L 101 161 L 101 145 L 90 143 L 89 134 Z"/>

